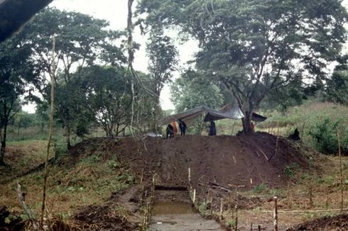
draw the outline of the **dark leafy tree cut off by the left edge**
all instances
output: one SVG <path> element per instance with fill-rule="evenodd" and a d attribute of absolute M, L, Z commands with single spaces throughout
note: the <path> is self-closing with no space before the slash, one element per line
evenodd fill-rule
<path fill-rule="evenodd" d="M 21 110 L 19 98 L 32 90 L 29 84 L 37 81 L 30 55 L 30 47 L 18 36 L 0 43 L 0 165 L 5 164 L 7 126 Z"/>

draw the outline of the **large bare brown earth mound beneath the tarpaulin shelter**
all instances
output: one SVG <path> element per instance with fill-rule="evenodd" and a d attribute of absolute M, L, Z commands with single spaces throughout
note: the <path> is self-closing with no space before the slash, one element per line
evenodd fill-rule
<path fill-rule="evenodd" d="M 253 188 L 259 184 L 283 186 L 284 169 L 295 164 L 308 169 L 308 159 L 286 138 L 268 133 L 248 136 L 176 136 L 173 139 L 146 137 L 135 140 L 93 138 L 72 148 L 69 162 L 95 152 L 104 158 L 116 155 L 136 176 L 162 186 L 187 186 L 188 168 L 192 186 L 211 183 Z M 71 162 L 72 161 L 72 162 Z"/>

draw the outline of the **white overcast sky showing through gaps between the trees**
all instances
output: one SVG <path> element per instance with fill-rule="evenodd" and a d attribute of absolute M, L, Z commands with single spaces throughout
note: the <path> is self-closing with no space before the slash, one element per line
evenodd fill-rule
<path fill-rule="evenodd" d="M 127 2 L 128 0 L 54 0 L 49 6 L 55 6 L 65 11 L 86 13 L 95 18 L 102 18 L 109 21 L 111 29 L 124 30 L 127 23 Z M 342 4 L 348 8 L 348 0 L 344 0 Z M 134 40 L 141 44 L 140 50 L 136 51 L 135 54 L 134 68 L 142 72 L 147 72 L 146 37 L 140 35 L 138 28 L 134 31 Z M 182 67 L 187 61 L 192 60 L 192 55 L 198 50 L 197 43 L 195 41 L 189 41 L 183 45 L 179 43 L 176 45 L 180 52 L 180 66 Z M 174 76 L 178 77 L 178 74 L 176 72 Z M 170 102 L 169 86 L 165 86 L 161 92 L 161 106 L 164 110 L 174 109 L 173 103 Z M 35 112 L 32 104 L 24 106 L 23 110 L 30 113 Z"/>

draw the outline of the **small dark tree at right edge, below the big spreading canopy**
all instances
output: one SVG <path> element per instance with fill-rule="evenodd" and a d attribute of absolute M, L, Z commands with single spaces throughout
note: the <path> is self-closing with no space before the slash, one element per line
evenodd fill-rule
<path fill-rule="evenodd" d="M 348 66 L 347 56 L 339 59 L 332 77 L 327 80 L 326 94 L 330 101 L 348 105 Z"/>

